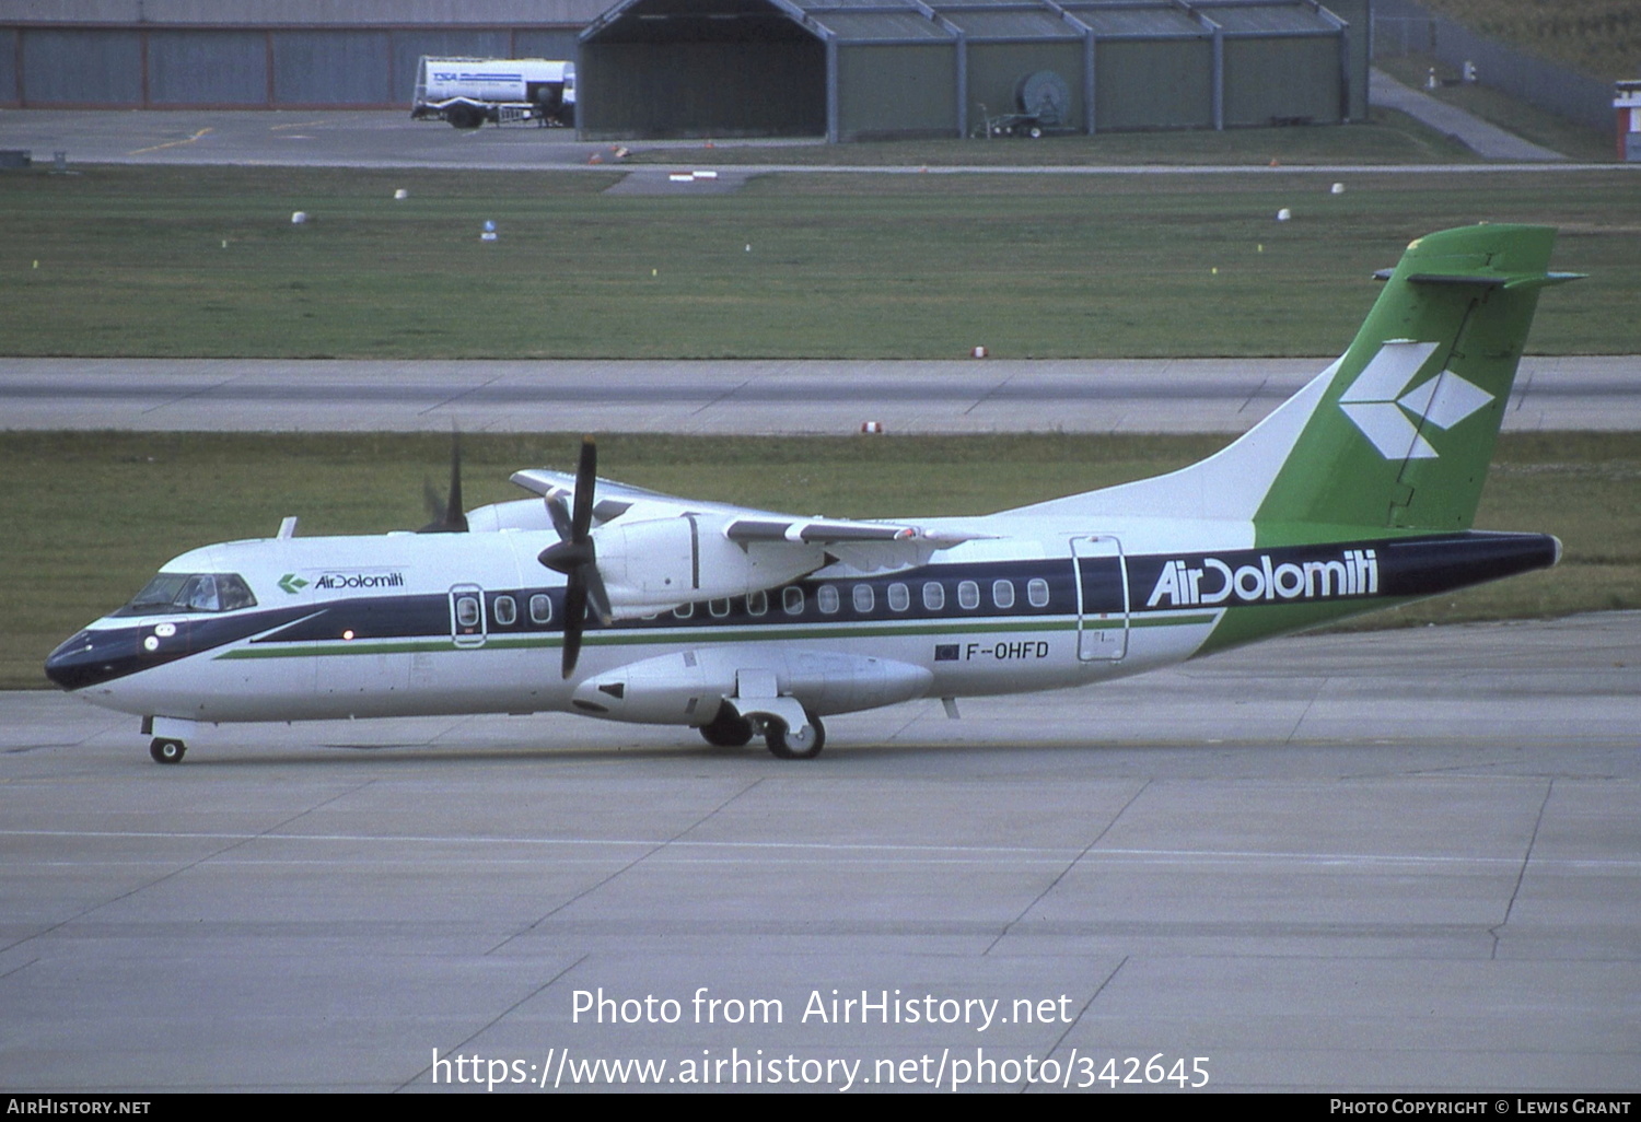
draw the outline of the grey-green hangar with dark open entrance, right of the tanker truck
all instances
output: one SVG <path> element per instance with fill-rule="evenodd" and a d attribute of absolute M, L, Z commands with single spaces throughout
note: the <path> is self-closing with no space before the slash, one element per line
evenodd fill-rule
<path fill-rule="evenodd" d="M 581 33 L 579 125 L 968 136 L 1027 94 L 1080 133 L 1364 120 L 1367 3 L 622 0 Z"/>

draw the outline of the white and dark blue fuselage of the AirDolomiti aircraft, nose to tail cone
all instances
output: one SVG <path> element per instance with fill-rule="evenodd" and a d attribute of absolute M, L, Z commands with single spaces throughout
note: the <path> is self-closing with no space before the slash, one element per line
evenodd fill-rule
<path fill-rule="evenodd" d="M 59 646 L 46 671 L 97 705 L 194 722 L 566 710 L 702 723 L 752 671 L 825 715 L 1134 674 L 1557 553 L 1546 535 L 1255 546 L 1252 525 L 1214 520 L 963 525 L 988 536 L 916 568 L 834 564 L 592 625 L 568 679 L 565 582 L 537 561 L 551 531 L 235 541 L 162 569 L 217 577 L 215 600 L 128 605 Z M 230 577 L 248 595 L 228 595 Z M 683 702 L 647 704 L 645 691 Z M 691 691 L 702 704 L 688 705 Z"/>

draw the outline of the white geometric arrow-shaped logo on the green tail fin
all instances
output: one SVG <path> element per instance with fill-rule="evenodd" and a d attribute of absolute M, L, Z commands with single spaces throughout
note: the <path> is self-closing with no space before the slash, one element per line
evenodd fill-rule
<path fill-rule="evenodd" d="M 1447 430 L 1493 400 L 1452 371 L 1408 389 L 1438 346 L 1411 340 L 1385 343 L 1339 397 L 1339 408 L 1385 459 L 1436 459 L 1436 449 L 1410 417 Z"/>

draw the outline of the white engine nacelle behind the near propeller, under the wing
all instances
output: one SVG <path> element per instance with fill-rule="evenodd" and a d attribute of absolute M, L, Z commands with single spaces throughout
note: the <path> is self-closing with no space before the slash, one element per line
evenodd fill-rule
<path fill-rule="evenodd" d="M 610 607 L 624 618 L 747 595 L 825 564 L 825 551 L 817 545 L 740 546 L 724 536 L 720 518 L 702 515 L 615 522 L 594 530 L 592 541 Z"/>

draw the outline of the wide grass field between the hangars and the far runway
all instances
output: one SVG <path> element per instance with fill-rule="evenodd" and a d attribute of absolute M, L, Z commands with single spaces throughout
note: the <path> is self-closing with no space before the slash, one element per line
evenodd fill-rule
<path fill-rule="evenodd" d="M 602 172 L 41 169 L 0 177 L 0 349 L 1316 356 L 1410 238 L 1477 220 L 1561 226 L 1556 267 L 1592 274 L 1544 300 L 1536 353 L 1636 349 L 1641 177 L 1339 179 L 802 174 L 668 198 L 604 195 Z"/>

